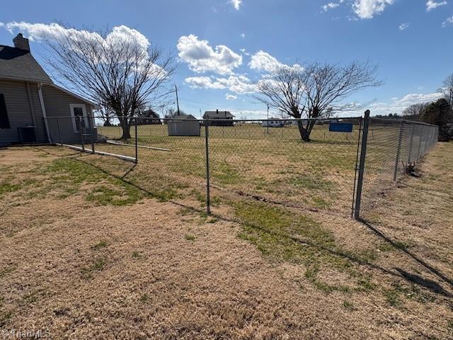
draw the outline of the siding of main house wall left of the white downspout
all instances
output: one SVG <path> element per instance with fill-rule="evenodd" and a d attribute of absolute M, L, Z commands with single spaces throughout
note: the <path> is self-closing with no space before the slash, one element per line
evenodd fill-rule
<path fill-rule="evenodd" d="M 30 91 L 32 93 L 33 111 L 35 112 L 33 118 L 25 81 L 0 80 L 0 94 L 4 94 L 8 119 L 11 125 L 9 129 L 0 129 L 0 145 L 20 142 L 18 128 L 26 126 L 35 126 L 37 141 L 46 142 L 39 102 L 37 105 L 33 101 L 33 90 L 30 89 Z"/>

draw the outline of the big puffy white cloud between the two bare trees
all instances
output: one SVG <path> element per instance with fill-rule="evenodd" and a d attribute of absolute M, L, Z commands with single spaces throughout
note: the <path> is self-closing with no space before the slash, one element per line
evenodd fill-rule
<path fill-rule="evenodd" d="M 242 64 L 242 56 L 229 47 L 217 45 L 214 49 L 207 40 L 199 40 L 196 35 L 183 35 L 178 40 L 178 57 L 186 62 L 193 72 L 215 72 L 232 74 L 233 69 Z"/>

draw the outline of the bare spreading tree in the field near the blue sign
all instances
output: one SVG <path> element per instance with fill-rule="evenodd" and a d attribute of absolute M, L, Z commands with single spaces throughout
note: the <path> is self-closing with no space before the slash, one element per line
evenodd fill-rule
<path fill-rule="evenodd" d="M 361 89 L 380 86 L 377 67 L 368 62 L 352 62 L 346 66 L 312 62 L 305 67 L 280 67 L 270 77 L 258 82 L 259 101 L 273 106 L 298 121 L 299 133 L 310 141 L 316 119 L 335 111 L 357 109 L 357 103 L 345 99 Z"/>

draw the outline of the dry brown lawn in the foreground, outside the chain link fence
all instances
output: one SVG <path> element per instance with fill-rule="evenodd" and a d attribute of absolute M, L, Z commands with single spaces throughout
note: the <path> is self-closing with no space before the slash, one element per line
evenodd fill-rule
<path fill-rule="evenodd" d="M 147 164 L 1 149 L 0 329 L 452 339 L 452 166 L 453 144 L 438 145 L 366 225 L 236 196 L 207 217 L 202 186 L 171 186 Z"/>

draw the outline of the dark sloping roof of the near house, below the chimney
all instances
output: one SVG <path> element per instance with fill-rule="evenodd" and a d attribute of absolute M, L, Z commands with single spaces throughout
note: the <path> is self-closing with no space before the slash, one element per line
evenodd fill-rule
<path fill-rule="evenodd" d="M 30 51 L 0 45 L 0 78 L 52 83 Z"/>

